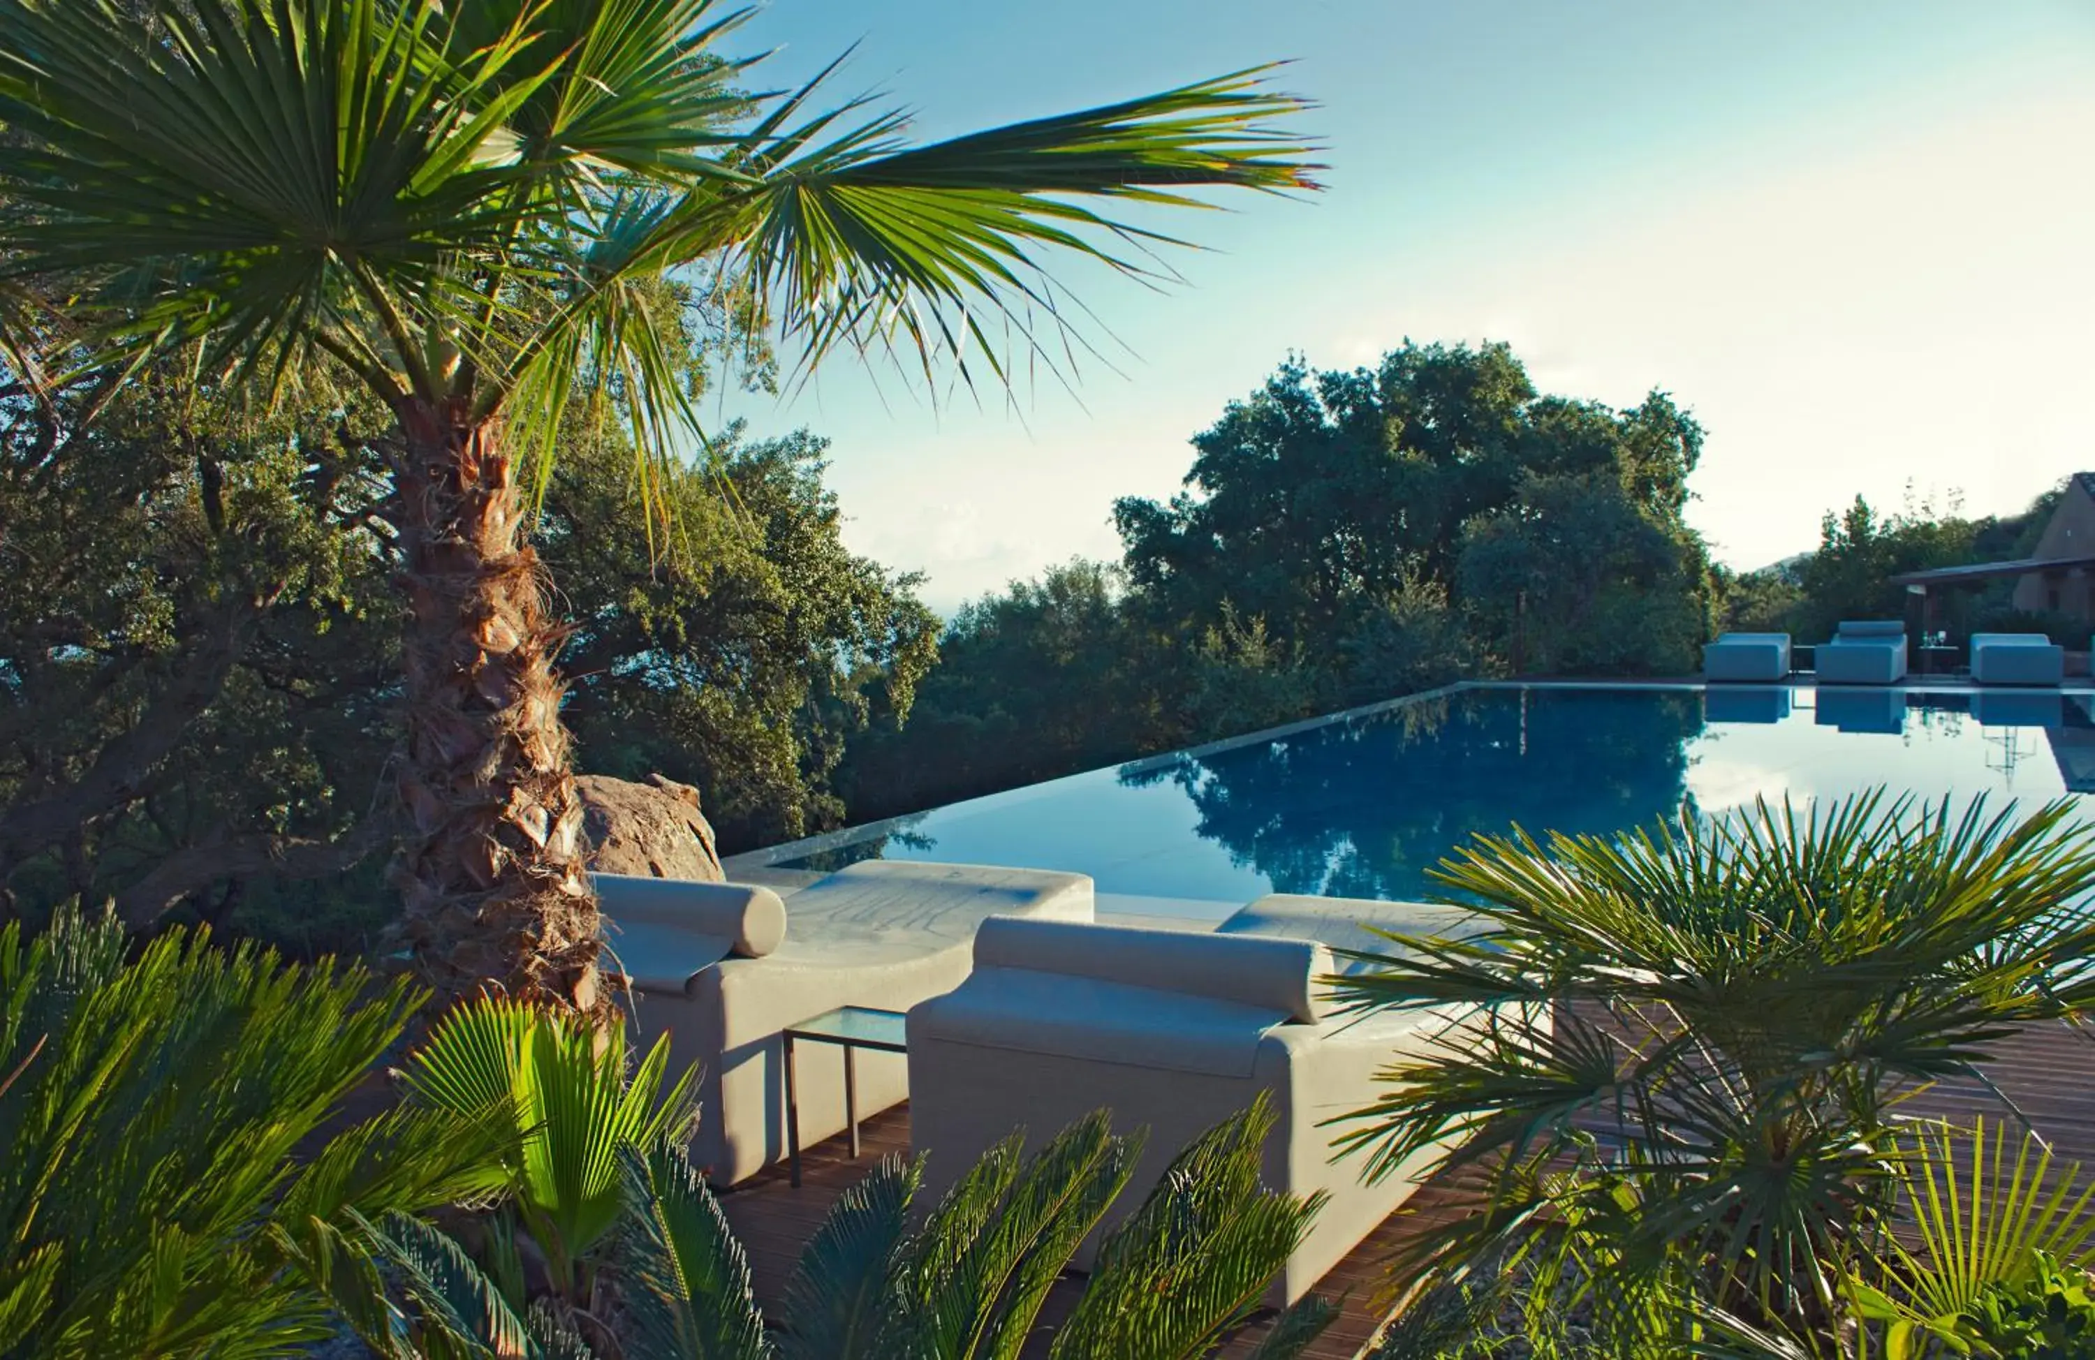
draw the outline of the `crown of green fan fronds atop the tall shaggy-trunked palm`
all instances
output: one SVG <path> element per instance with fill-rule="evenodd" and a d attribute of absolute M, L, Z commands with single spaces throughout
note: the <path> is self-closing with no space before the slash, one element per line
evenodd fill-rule
<path fill-rule="evenodd" d="M 754 287 L 809 356 L 909 337 L 997 365 L 985 319 L 1060 314 L 1029 251 L 1148 272 L 1081 199 L 1311 187 L 1257 73 L 905 147 L 895 115 L 752 96 L 710 0 L 0 4 L 6 272 L 111 337 L 253 371 L 325 350 L 381 398 L 526 421 L 580 377 L 687 419 L 631 285 Z M 1020 329 L 1029 329 L 1024 321 Z M 972 346 L 970 346 L 972 339 Z M 1001 339 L 997 342 L 1001 344 Z M 1001 373 L 1001 367 L 999 367 Z"/>

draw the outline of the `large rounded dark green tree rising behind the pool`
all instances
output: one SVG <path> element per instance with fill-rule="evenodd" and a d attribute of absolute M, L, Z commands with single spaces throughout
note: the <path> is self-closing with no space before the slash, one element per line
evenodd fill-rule
<path fill-rule="evenodd" d="M 1506 346 L 1408 344 L 1351 373 L 1291 360 L 1194 451 L 1171 503 L 1115 505 L 1133 589 L 1182 635 L 1228 604 L 1355 694 L 1385 675 L 1347 654 L 1418 583 L 1521 668 L 1680 668 L 1701 641 L 1680 524 L 1701 430 L 1663 394 L 1615 413 L 1538 396 Z M 1636 629 L 1611 620 L 1624 597 Z"/>

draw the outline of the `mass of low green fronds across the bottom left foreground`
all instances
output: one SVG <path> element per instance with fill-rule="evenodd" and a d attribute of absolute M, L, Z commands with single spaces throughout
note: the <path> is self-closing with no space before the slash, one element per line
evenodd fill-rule
<path fill-rule="evenodd" d="M 113 920 L 0 930 L 0 1356 L 385 1360 L 1004 1356 L 1142 1148 L 1094 1115 L 993 1148 L 916 1213 L 888 1161 L 809 1243 L 777 1337 L 683 1155 L 666 1046 L 509 1002 L 453 1012 L 373 1085 L 421 1000 L 360 968 Z M 350 1115 L 350 1109 L 365 1111 Z M 375 1111 L 375 1113 L 373 1113 Z M 1259 1104 L 1188 1146 L 1106 1234 L 1066 1360 L 1198 1360 L 1257 1308 L 1318 1201 L 1259 1186 Z M 440 1215 L 446 1230 L 434 1226 Z M 1307 1299 L 1259 1352 L 1284 1360 Z"/>

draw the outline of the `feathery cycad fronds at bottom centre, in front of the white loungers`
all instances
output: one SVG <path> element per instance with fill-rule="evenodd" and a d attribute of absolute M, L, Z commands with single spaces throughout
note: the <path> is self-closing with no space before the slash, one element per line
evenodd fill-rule
<path fill-rule="evenodd" d="M 1318 1211 L 1259 1186 L 1272 1129 L 1261 1102 L 1173 1161 L 1112 1228 L 1083 1297 L 1056 1331 L 1056 1360 L 1196 1360 L 1242 1324 Z M 918 1173 L 886 1161 L 846 1192 L 807 1245 L 773 1345 L 748 1301 L 748 1264 L 704 1182 L 675 1150 L 629 1155 L 633 1360 L 1012 1360 L 1048 1289 L 1127 1184 L 1140 1140 L 1104 1115 L 1031 1157 L 1010 1138 L 922 1215 Z M 1295 1356 L 1330 1322 L 1305 1299 L 1261 1356 Z"/>

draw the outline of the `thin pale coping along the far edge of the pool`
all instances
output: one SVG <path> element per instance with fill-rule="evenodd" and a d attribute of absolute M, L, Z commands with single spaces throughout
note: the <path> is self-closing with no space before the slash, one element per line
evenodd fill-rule
<path fill-rule="evenodd" d="M 2089 694 L 2091 687 L 2095 687 L 2085 677 L 2072 677 L 2072 679 L 2082 679 L 2082 683 L 2080 685 L 2074 685 L 2074 683 L 2066 683 L 2066 685 L 2032 685 L 2028 692 L 2030 694 L 2038 694 L 2038 692 L 2051 692 L 2051 694 Z M 1066 775 L 1056 775 L 1052 780 L 1039 780 L 1035 784 L 1020 784 L 1018 788 L 1004 788 L 1004 790 L 997 790 L 993 794 L 976 794 L 972 798 L 960 798 L 957 803 L 941 803 L 939 807 L 926 807 L 926 809 L 920 809 L 920 811 L 913 811 L 913 813 L 897 813 L 895 817 L 882 817 L 880 821 L 861 821 L 857 826 L 840 826 L 834 832 L 817 832 L 813 836 L 802 836 L 800 840 L 786 840 L 781 844 L 771 844 L 771 847 L 763 847 L 763 849 L 756 849 L 756 851 L 740 851 L 735 855 L 725 855 L 721 859 L 721 868 L 725 872 L 729 872 L 729 874 L 744 872 L 744 870 L 769 870 L 769 868 L 775 868 L 779 863 L 788 863 L 788 861 L 794 861 L 794 859 L 807 859 L 809 855 L 821 855 L 825 851 L 840 851 L 844 847 L 863 844 L 863 842 L 874 840 L 878 836 L 905 834 L 905 832 L 909 832 L 911 826 L 916 826 L 924 817 L 928 817 L 932 813 L 939 813 L 939 811 L 953 809 L 953 807 L 966 807 L 970 803 L 980 803 L 980 805 L 995 803 L 999 807 L 1001 805 L 1012 805 L 1012 803 L 1027 803 L 1031 798 L 1043 796 L 1043 792 L 1048 788 L 1052 788 L 1056 784 L 1062 784 L 1066 780 L 1081 780 L 1085 775 L 1098 775 L 1098 773 L 1104 773 L 1104 771 L 1148 773 L 1148 771 L 1156 771 L 1156 769 L 1169 769 L 1171 765 L 1175 765 L 1179 761 L 1188 761 L 1188 759 L 1198 761 L 1203 756 L 1221 754 L 1226 750 L 1236 750 L 1240 746 L 1255 746 L 1259 742 L 1280 742 L 1280 740 L 1286 740 L 1291 736 L 1297 736 L 1301 731 L 1309 731 L 1309 729 L 1316 729 L 1316 727 L 1328 727 L 1332 723 L 1349 723 L 1349 721 L 1364 719 L 1364 717 L 1374 717 L 1374 715 L 1381 715 L 1381 712 L 1393 712 L 1397 708 L 1408 708 L 1412 704 L 1429 704 L 1433 700 L 1443 700 L 1443 698 L 1450 698 L 1454 694 L 1464 694 L 1469 689 L 1617 689 L 1617 692 L 1619 689 L 1661 689 L 1661 692 L 1682 694 L 1682 692 L 1703 692 L 1703 689 L 1710 689 L 1710 687 L 1712 685 L 1705 683 L 1699 677 L 1678 677 L 1678 679 L 1569 679 L 1569 677 L 1567 679 L 1550 679 L 1550 677 L 1538 677 L 1538 679 L 1469 679 L 1469 681 L 1454 681 L 1454 683 L 1448 683 L 1448 685 L 1435 685 L 1433 689 L 1420 689 L 1416 694 L 1399 694 L 1397 698 L 1376 700 L 1372 704 L 1360 704 L 1360 706 L 1353 706 L 1353 708 L 1341 708 L 1337 712 L 1324 712 L 1324 715 L 1318 715 L 1314 719 L 1299 719 L 1295 723 L 1282 723 L 1278 727 L 1261 727 L 1257 731 L 1247 731 L 1242 736 L 1221 738 L 1221 740 L 1215 740 L 1215 742 L 1203 742 L 1200 746 L 1182 746 L 1177 750 L 1165 750 L 1165 752 L 1159 752 L 1159 754 L 1152 754 L 1152 756 L 1135 756 L 1131 761 L 1115 761 L 1110 765 L 1098 765 L 1098 767 L 1091 767 L 1091 769 L 1077 769 L 1077 771 L 1071 771 Z M 1718 689 L 1737 689 L 1737 692 L 1747 692 L 1747 689 L 1812 689 L 1812 692 L 1816 692 L 1818 683 L 1810 675 L 1791 675 L 1791 677 L 1781 679 L 1781 681 L 1764 681 L 1764 683 L 1722 681 L 1716 687 Z M 1909 679 L 1902 679 L 1896 685 L 1835 685 L 1835 689 L 1842 689 L 1842 692 L 1848 692 L 1848 689 L 1898 689 L 1902 694 L 1944 696 L 1944 698 L 1948 698 L 1948 696 L 1988 694 L 1988 692 L 1999 689 L 1999 687 L 1997 685 L 1973 685 L 1969 681 L 1959 681 L 1959 679 L 1953 679 L 1953 677 L 1909 677 Z"/>

